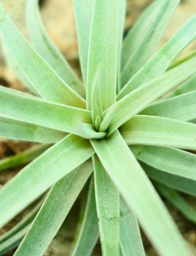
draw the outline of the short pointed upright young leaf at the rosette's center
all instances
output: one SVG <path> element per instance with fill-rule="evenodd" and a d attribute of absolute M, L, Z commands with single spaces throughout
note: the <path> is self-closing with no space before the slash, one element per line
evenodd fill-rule
<path fill-rule="evenodd" d="M 95 77 L 93 79 L 92 85 L 92 96 L 91 96 L 91 115 L 93 125 L 95 127 L 96 118 L 99 117 L 102 121 L 103 119 L 103 111 L 101 107 L 101 95 L 100 95 L 100 86 L 101 86 L 101 66 L 98 66 L 97 71 L 95 73 Z"/>

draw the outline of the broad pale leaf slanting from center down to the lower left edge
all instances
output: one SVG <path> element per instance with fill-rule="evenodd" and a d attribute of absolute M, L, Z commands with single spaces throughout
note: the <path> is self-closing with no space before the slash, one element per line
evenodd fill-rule
<path fill-rule="evenodd" d="M 0 191 L 0 227 L 93 153 L 88 141 L 71 134 L 23 168 Z"/>

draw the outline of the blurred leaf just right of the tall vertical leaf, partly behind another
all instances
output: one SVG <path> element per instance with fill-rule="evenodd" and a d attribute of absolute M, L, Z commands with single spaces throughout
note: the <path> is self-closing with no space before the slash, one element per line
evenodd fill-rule
<path fill-rule="evenodd" d="M 127 61 L 133 55 L 138 47 L 138 42 L 142 42 L 145 33 L 154 18 L 154 14 L 160 9 L 161 1 L 153 2 L 138 18 L 135 24 L 132 26 L 127 36 L 123 41 L 122 53 L 121 53 L 121 69 L 124 68 Z"/>

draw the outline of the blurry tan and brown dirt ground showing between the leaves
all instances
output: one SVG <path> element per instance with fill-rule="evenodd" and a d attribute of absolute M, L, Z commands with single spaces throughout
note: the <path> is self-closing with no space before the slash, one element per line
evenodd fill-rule
<path fill-rule="evenodd" d="M 14 0 L 4 0 L 2 1 L 9 15 L 14 20 L 16 26 L 23 33 L 23 35 L 28 38 L 25 19 L 24 19 L 24 6 L 25 0 L 18 0 L 17 6 Z M 125 21 L 125 31 L 133 25 L 134 21 L 139 17 L 143 10 L 152 2 L 152 0 L 127 0 L 127 15 Z M 54 8 L 55 7 L 55 8 Z M 177 8 L 169 26 L 167 27 L 163 38 L 161 40 L 160 48 L 171 36 L 184 24 L 184 22 L 189 19 L 192 15 L 196 13 L 196 3 L 195 0 L 182 0 L 179 7 Z M 65 57 L 70 61 L 71 65 L 78 71 L 78 50 L 77 50 L 77 39 L 73 15 L 73 5 L 72 0 L 42 0 L 41 1 L 41 14 L 43 17 L 46 29 L 52 38 L 52 40 L 57 44 L 58 48 L 62 51 Z M 196 48 L 196 42 L 191 43 L 181 55 Z M 78 71 L 79 73 L 79 71 Z M 15 74 L 11 71 L 10 67 L 4 62 L 3 56 L 0 51 L 0 84 L 8 86 L 10 88 L 26 91 L 23 85 L 17 80 Z M 0 159 L 6 156 L 17 154 L 24 149 L 31 147 L 33 143 L 25 143 L 18 141 L 8 141 L 7 139 L 0 138 Z M 0 188 L 11 179 L 19 170 L 19 168 L 5 170 L 0 173 Z M 191 197 L 186 196 L 186 199 L 195 206 L 195 200 Z M 191 248 L 196 246 L 196 235 L 194 225 L 186 220 L 175 207 L 173 207 L 169 202 L 165 202 L 169 211 L 171 212 L 173 218 L 178 224 L 184 238 L 187 240 Z M 73 209 L 71 210 L 68 218 L 64 222 L 62 228 L 58 232 L 57 236 L 49 246 L 46 255 L 68 255 L 76 228 L 76 220 L 78 218 L 78 205 L 79 200 L 75 203 Z M 24 211 L 19 217 L 16 217 L 9 225 L 0 231 L 0 234 L 9 229 L 14 223 L 16 223 L 22 216 L 26 214 L 28 210 Z M 152 248 L 151 244 L 143 234 L 144 245 L 146 247 L 147 254 L 149 256 L 155 256 L 157 253 Z M 9 252 L 5 255 L 12 255 Z M 99 243 L 96 246 L 93 254 L 94 256 L 101 255 Z M 196 255 L 196 253 L 195 253 Z M 82 256 L 82 255 L 81 255 Z"/>

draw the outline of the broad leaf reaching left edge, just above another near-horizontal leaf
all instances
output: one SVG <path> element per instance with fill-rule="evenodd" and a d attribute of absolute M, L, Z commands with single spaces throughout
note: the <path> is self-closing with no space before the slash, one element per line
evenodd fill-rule
<path fill-rule="evenodd" d="M 0 86 L 0 112 L 35 125 L 80 134 L 77 123 L 91 123 L 91 112 L 48 102 Z"/>

